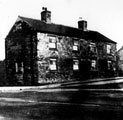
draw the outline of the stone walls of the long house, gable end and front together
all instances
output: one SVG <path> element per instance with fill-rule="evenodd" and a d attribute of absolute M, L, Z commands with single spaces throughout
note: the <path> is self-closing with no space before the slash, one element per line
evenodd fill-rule
<path fill-rule="evenodd" d="M 5 44 L 9 85 L 37 85 L 102 77 L 107 72 L 107 68 L 102 69 L 105 63 L 108 67 L 107 61 L 116 61 L 115 44 L 41 33 L 24 22 L 15 24 Z M 93 49 L 91 44 L 95 46 Z M 110 54 L 107 54 L 107 44 L 111 45 Z M 96 69 L 93 70 L 92 60 L 96 61 Z"/>

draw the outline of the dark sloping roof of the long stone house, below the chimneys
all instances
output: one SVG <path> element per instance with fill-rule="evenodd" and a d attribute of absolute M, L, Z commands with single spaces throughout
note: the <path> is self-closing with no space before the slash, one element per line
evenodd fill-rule
<path fill-rule="evenodd" d="M 77 37 L 77 38 L 82 38 L 86 40 L 92 40 L 92 41 L 102 41 L 102 42 L 109 42 L 109 43 L 115 43 L 115 41 L 107 38 L 106 36 L 102 35 L 101 33 L 97 31 L 82 31 L 78 28 L 74 27 L 68 27 L 64 25 L 59 25 L 59 24 L 53 24 L 53 23 L 45 23 L 42 22 L 41 20 L 36 20 L 32 18 L 26 18 L 26 17 L 18 17 L 20 20 L 26 22 L 29 24 L 32 28 L 39 32 L 44 32 L 44 33 L 52 33 L 52 34 L 57 34 L 57 35 L 65 35 L 69 37 Z"/>

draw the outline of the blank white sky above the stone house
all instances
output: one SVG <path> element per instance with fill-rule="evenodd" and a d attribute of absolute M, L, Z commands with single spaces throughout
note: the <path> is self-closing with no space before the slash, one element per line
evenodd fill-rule
<path fill-rule="evenodd" d="M 123 0 L 0 0 L 0 60 L 5 58 L 5 38 L 18 16 L 41 19 L 42 7 L 52 12 L 52 22 L 78 27 L 88 22 L 88 30 L 102 33 L 123 46 Z"/>

